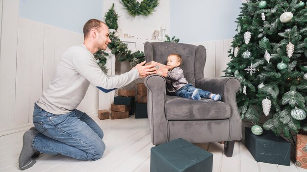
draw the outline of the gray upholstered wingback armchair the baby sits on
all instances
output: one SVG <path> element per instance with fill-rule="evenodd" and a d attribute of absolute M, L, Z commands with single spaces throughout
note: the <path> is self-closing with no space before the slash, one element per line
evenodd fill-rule
<path fill-rule="evenodd" d="M 195 101 L 166 95 L 166 82 L 160 75 L 145 78 L 147 111 L 153 145 L 183 138 L 191 143 L 225 141 L 225 154 L 232 156 L 234 141 L 241 140 L 242 121 L 238 114 L 235 94 L 240 81 L 233 77 L 204 78 L 206 49 L 203 45 L 185 43 L 149 43 L 144 46 L 146 62 L 167 63 L 169 54 L 182 57 L 184 77 L 197 88 L 222 96 Z"/>

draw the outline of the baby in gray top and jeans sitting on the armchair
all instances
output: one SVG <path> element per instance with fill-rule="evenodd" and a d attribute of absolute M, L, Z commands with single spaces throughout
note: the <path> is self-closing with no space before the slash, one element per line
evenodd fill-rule
<path fill-rule="evenodd" d="M 182 59 L 179 54 L 170 54 L 167 57 L 166 65 L 169 67 L 169 71 L 166 78 L 166 90 L 170 95 L 193 100 L 201 100 L 201 98 L 210 98 L 214 101 L 221 100 L 221 95 L 195 88 L 192 84 L 189 84 L 183 76 L 183 70 L 179 67 L 181 62 Z"/>

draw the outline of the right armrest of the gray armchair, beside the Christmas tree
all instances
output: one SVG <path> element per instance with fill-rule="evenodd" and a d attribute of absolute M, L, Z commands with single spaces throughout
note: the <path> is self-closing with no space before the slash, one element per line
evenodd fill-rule
<path fill-rule="evenodd" d="M 228 140 L 241 140 L 242 120 L 236 102 L 236 92 L 241 86 L 240 81 L 233 77 L 201 78 L 195 81 L 195 86 L 222 96 L 221 101 L 230 106 L 230 136 Z"/>

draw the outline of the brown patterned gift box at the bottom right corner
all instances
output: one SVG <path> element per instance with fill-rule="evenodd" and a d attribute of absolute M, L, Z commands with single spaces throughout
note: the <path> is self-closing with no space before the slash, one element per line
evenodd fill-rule
<path fill-rule="evenodd" d="M 295 164 L 307 169 L 307 135 L 296 135 Z"/>

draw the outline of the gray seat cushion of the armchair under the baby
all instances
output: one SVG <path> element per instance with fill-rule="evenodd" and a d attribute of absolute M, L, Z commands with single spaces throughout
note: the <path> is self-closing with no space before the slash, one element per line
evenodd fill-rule
<path fill-rule="evenodd" d="M 200 101 L 177 96 L 165 96 L 167 120 L 219 120 L 230 118 L 230 106 L 211 99 Z"/>

